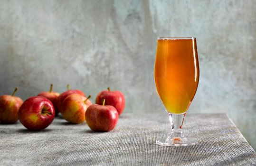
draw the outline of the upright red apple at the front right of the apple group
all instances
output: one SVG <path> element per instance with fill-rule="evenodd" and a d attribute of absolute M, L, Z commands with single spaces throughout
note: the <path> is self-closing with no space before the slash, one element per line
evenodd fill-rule
<path fill-rule="evenodd" d="M 118 112 L 111 105 L 92 104 L 85 112 L 88 126 L 94 131 L 110 131 L 114 129 L 118 121 Z"/>

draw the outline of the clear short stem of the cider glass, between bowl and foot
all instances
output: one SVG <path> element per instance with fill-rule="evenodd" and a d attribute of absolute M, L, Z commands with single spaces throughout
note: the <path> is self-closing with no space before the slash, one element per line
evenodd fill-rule
<path fill-rule="evenodd" d="M 169 113 L 169 120 L 171 121 L 171 135 L 170 139 L 179 140 L 179 138 L 184 138 L 182 125 L 186 113 L 183 114 L 172 114 Z"/>

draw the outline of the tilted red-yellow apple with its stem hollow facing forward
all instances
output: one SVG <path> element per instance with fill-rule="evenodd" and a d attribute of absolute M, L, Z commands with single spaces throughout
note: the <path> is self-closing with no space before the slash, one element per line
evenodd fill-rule
<path fill-rule="evenodd" d="M 19 108 L 19 121 L 29 130 L 47 128 L 55 116 L 51 101 L 42 96 L 28 98 Z"/>

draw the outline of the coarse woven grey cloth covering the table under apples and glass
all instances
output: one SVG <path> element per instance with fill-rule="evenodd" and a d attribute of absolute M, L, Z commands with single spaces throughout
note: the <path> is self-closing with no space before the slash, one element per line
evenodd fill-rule
<path fill-rule="evenodd" d="M 255 151 L 226 114 L 188 114 L 183 129 L 199 144 L 156 145 L 170 134 L 164 113 L 123 113 L 105 133 L 61 118 L 39 132 L 20 123 L 0 125 L 0 165 L 256 165 Z"/>

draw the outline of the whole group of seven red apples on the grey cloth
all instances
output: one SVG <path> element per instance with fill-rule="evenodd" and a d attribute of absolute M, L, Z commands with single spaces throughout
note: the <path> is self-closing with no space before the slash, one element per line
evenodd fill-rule
<path fill-rule="evenodd" d="M 110 131 L 117 124 L 119 115 L 125 106 L 124 95 L 120 91 L 104 90 L 98 93 L 93 104 L 85 93 L 80 90 L 70 90 L 59 94 L 52 91 L 40 92 L 38 96 L 22 101 L 12 95 L 0 96 L 0 122 L 15 123 L 17 120 L 29 130 L 47 128 L 54 117 L 60 112 L 62 117 L 71 123 L 82 123 L 86 120 L 94 131 Z"/>

